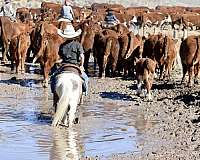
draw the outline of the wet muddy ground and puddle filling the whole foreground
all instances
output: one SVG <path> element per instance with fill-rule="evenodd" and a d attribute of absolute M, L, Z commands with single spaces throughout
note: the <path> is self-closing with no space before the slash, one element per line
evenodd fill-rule
<path fill-rule="evenodd" d="M 3 159 L 200 159 L 200 87 L 181 85 L 180 72 L 155 81 L 151 102 L 135 94 L 131 78 L 91 75 L 79 123 L 69 129 L 51 127 L 52 94 L 37 67 L 0 70 Z"/>

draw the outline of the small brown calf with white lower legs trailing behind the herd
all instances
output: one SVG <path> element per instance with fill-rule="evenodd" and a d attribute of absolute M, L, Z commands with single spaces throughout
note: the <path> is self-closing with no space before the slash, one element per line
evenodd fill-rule
<path fill-rule="evenodd" d="M 137 94 L 140 96 L 142 82 L 147 90 L 147 99 L 152 100 L 151 87 L 154 80 L 156 62 L 150 58 L 140 58 L 136 61 Z M 146 95 L 145 95 L 146 96 Z"/>

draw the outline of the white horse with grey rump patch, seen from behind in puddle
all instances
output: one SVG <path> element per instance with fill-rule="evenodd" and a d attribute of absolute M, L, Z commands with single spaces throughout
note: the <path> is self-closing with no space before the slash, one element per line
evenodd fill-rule
<path fill-rule="evenodd" d="M 55 77 L 55 115 L 52 126 L 70 127 L 75 123 L 75 113 L 82 97 L 82 83 L 82 78 L 74 72 L 64 71 Z"/>

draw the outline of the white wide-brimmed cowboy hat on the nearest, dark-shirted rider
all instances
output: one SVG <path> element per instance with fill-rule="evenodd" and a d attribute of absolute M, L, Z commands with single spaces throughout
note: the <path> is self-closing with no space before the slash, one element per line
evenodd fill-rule
<path fill-rule="evenodd" d="M 64 30 L 58 29 L 58 34 L 64 38 L 76 38 L 81 35 L 81 29 L 75 31 L 72 24 L 67 24 Z"/>

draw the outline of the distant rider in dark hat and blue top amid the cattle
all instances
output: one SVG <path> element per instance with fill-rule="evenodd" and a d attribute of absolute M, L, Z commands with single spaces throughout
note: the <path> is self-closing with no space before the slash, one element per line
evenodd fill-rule
<path fill-rule="evenodd" d="M 117 25 L 119 22 L 119 20 L 117 19 L 117 17 L 113 14 L 113 10 L 108 8 L 106 10 L 106 16 L 105 16 L 105 19 L 104 19 L 104 27 L 112 27 L 112 26 L 115 26 Z"/>

